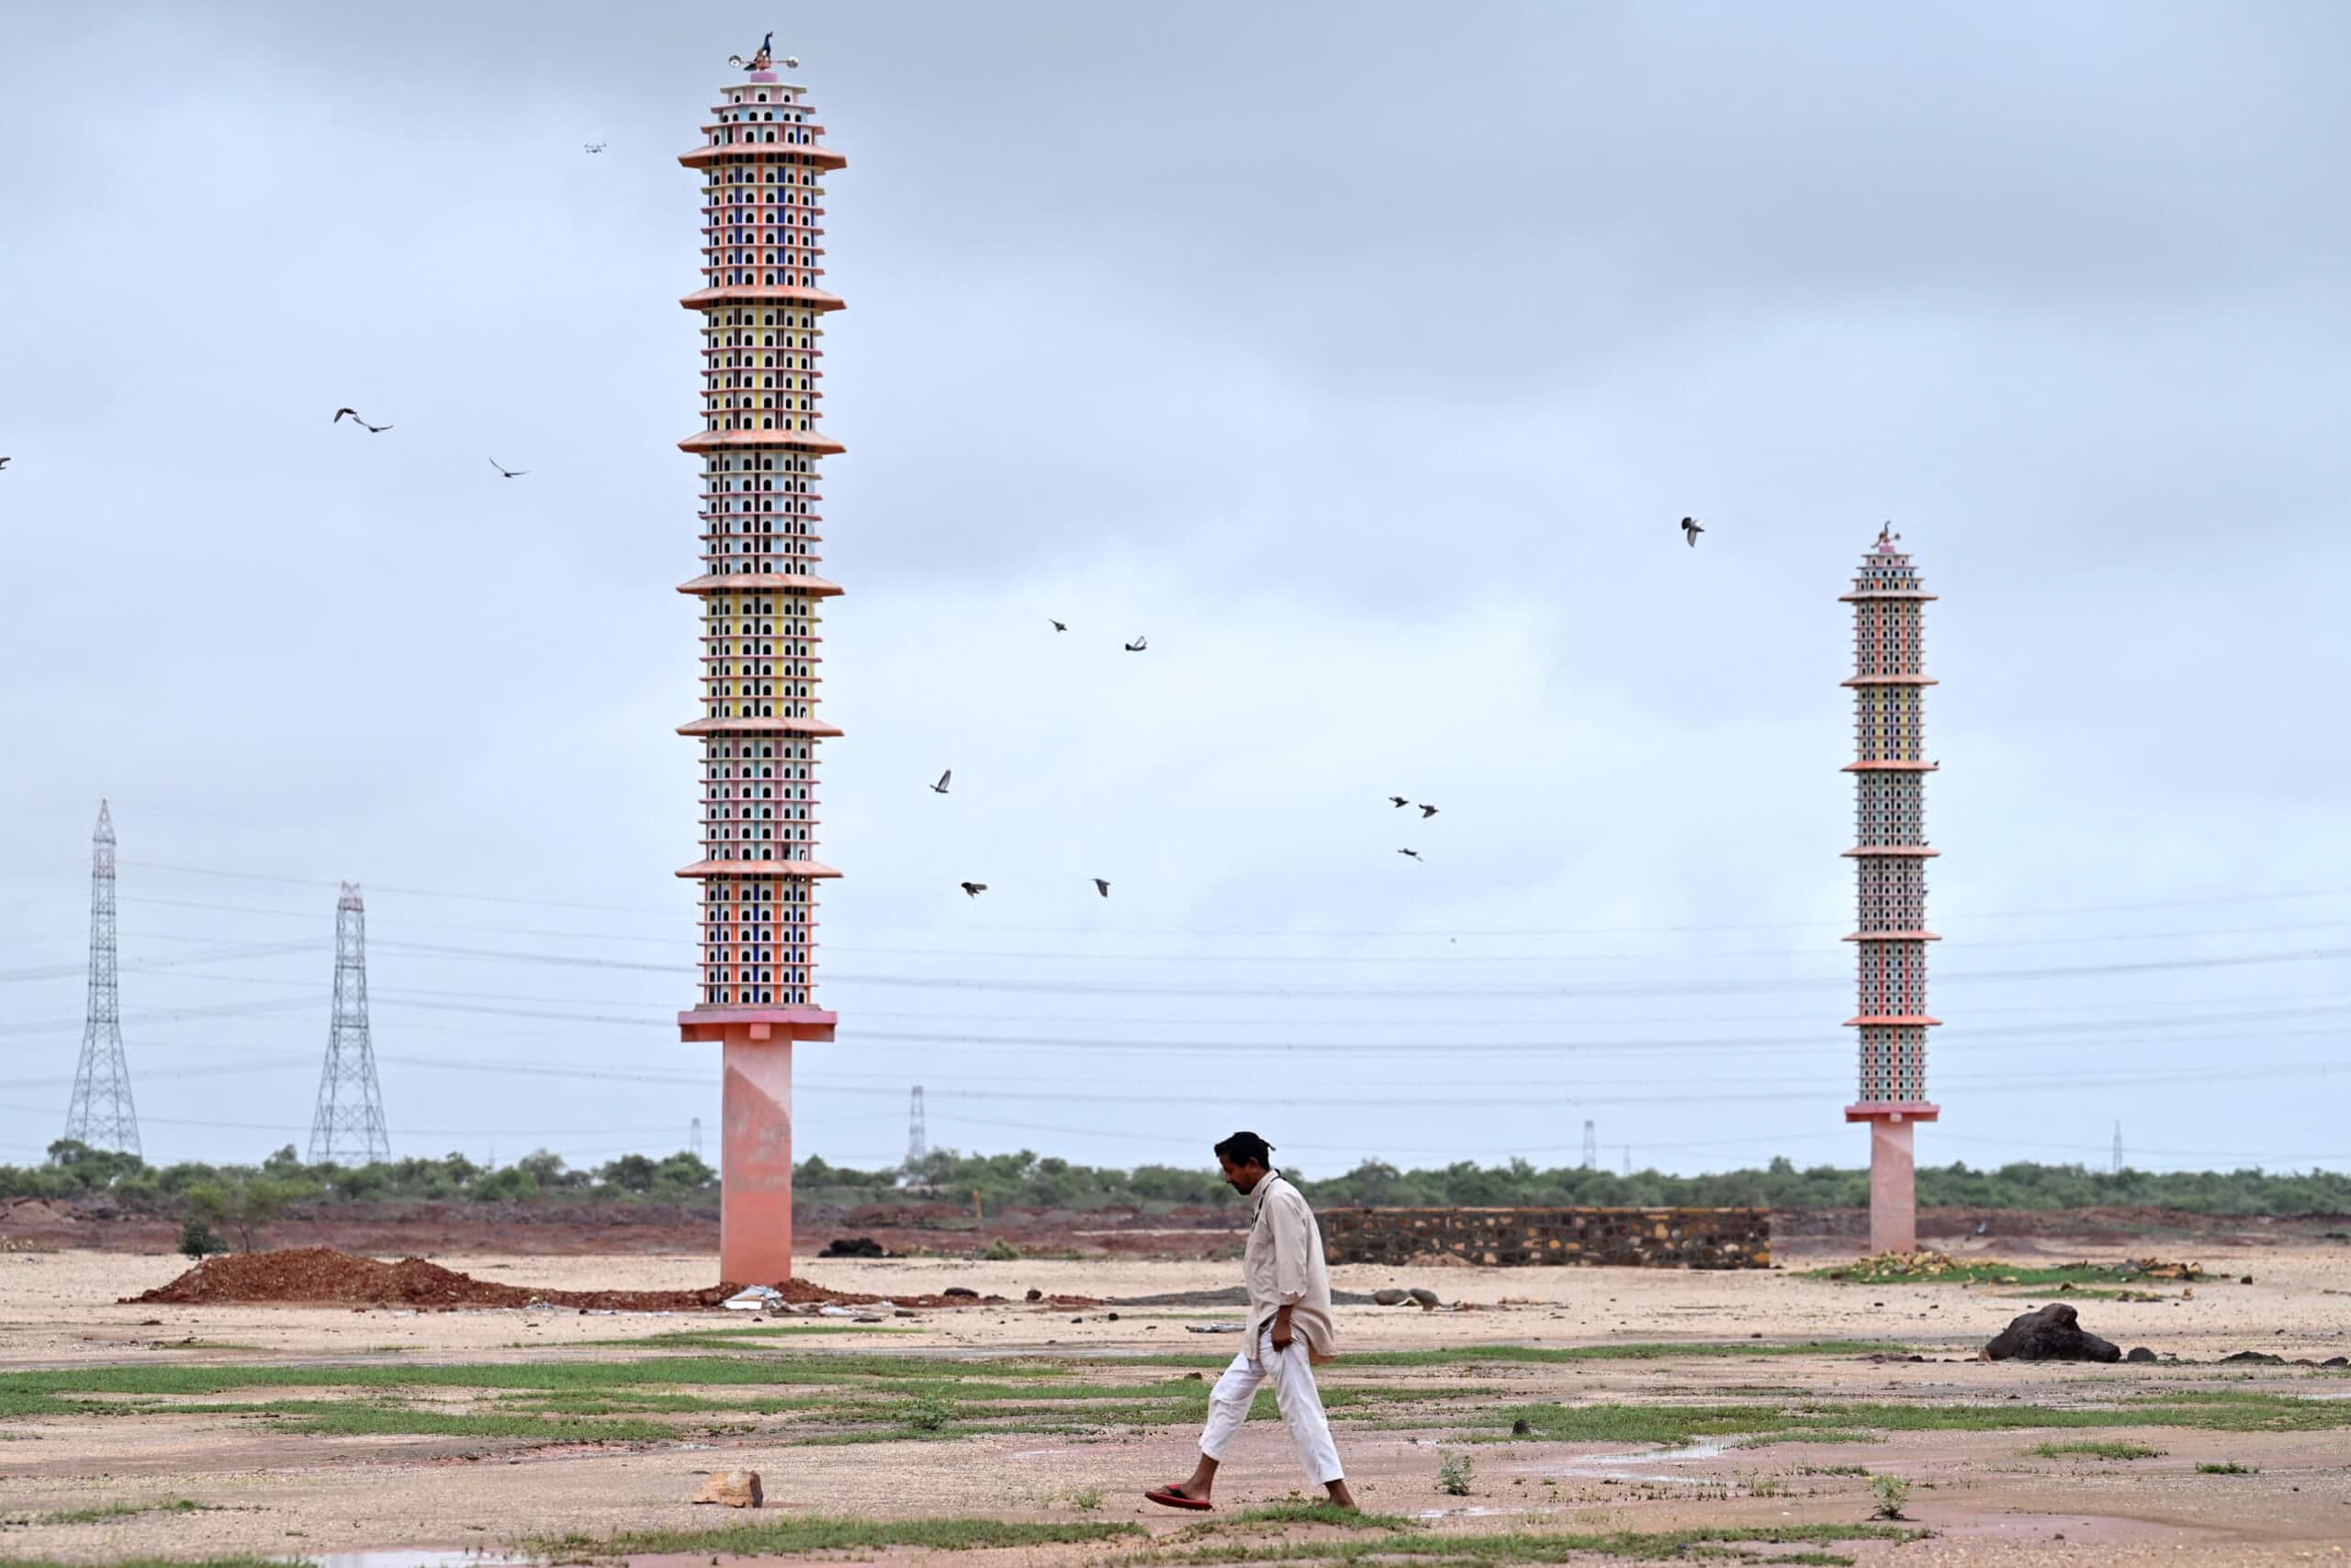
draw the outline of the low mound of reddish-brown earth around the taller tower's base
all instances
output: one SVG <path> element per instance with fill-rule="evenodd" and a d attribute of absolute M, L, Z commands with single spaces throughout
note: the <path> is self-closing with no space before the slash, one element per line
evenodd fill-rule
<path fill-rule="evenodd" d="M 828 1291 L 806 1279 L 788 1279 L 776 1286 L 788 1302 L 830 1302 L 842 1307 L 877 1305 L 882 1295 L 849 1295 Z M 376 1258 L 353 1258 L 331 1246 L 306 1246 L 280 1253 L 221 1253 L 205 1258 L 193 1269 L 146 1295 L 129 1295 L 132 1302 L 172 1305 L 331 1305 L 331 1307 L 583 1307 L 609 1312 L 703 1312 L 719 1307 L 741 1286 L 710 1286 L 708 1291 L 534 1291 L 508 1286 L 494 1279 L 475 1279 L 444 1269 L 423 1258 L 379 1262 Z M 900 1307 L 952 1305 L 943 1295 L 889 1298 Z"/>

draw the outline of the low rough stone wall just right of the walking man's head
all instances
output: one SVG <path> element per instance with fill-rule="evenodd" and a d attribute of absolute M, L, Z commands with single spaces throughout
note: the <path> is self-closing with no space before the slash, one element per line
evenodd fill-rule
<path fill-rule="evenodd" d="M 1770 1208 L 1324 1208 L 1331 1262 L 1768 1269 Z"/>

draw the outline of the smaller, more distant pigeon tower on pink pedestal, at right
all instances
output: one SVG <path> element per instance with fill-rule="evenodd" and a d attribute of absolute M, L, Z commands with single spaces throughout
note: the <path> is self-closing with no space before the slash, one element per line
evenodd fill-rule
<path fill-rule="evenodd" d="M 1846 1020 L 1862 1044 L 1862 1091 L 1846 1121 L 1869 1124 L 1869 1251 L 1909 1253 L 1918 1246 L 1916 1128 L 1942 1107 L 1925 1098 L 1925 945 L 1942 940 L 1925 929 L 1925 776 L 1918 757 L 1921 708 L 1935 682 L 1921 672 L 1918 625 L 1935 595 L 1902 552 L 1893 524 L 1862 557 L 1853 592 L 1853 773 L 1860 823 L 1846 853 L 1860 872 L 1857 943 L 1860 1011 Z"/>

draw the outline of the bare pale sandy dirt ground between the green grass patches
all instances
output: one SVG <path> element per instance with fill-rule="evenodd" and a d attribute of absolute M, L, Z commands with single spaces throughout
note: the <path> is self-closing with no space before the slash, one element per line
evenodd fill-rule
<path fill-rule="evenodd" d="M 2146 1394 L 2288 1394 L 2351 1401 L 2351 1375 L 2313 1366 L 2215 1366 L 2259 1349 L 2323 1361 L 2351 1352 L 2351 1246 L 2184 1248 L 2208 1279 L 2182 1298 L 2083 1300 L 2083 1324 L 2177 1363 L 2020 1366 L 1975 1361 L 1975 1349 L 2017 1312 L 2050 1300 L 2001 1286 L 1843 1286 L 1803 1276 L 1813 1260 L 1850 1246 L 1796 1246 L 1775 1272 L 1688 1274 L 1643 1269 L 1333 1269 L 1340 1291 L 1429 1286 L 1474 1309 L 1342 1307 L 1342 1352 L 1467 1345 L 1606 1347 L 1681 1342 L 1768 1349 L 1808 1340 L 1897 1342 L 1923 1361 L 1843 1354 L 1704 1354 L 1601 1361 L 1479 1361 L 1436 1368 L 1352 1371 L 1342 1356 L 1324 1387 L 1453 1392 L 1451 1410 L 1556 1401 L 1719 1403 L 1763 1401 L 1789 1410 L 1824 1401 L 1965 1406 L 2114 1406 Z M 1813 1255 L 1806 1255 L 1806 1253 Z M 2001 1237 L 1970 1251 L 2029 1258 L 2038 1248 Z M 2057 1251 L 2083 1255 L 2088 1248 Z M 2088 1251 L 2118 1260 L 2121 1248 Z M 694 1288 L 715 1260 L 691 1255 L 437 1255 L 484 1279 L 576 1291 Z M 663 1333 L 736 1328 L 741 1314 L 404 1312 L 313 1307 L 146 1307 L 118 1298 L 183 1269 L 172 1255 L 0 1255 L 0 1373 L 35 1368 L 315 1368 L 411 1363 L 520 1363 L 635 1359 Z M 813 1260 L 799 1272 L 823 1286 L 870 1293 L 940 1293 L 964 1286 L 1013 1305 L 924 1312 L 884 1331 L 802 1340 L 797 1354 L 933 1356 L 940 1361 L 1084 1359 L 1089 1378 L 1119 1378 L 1121 1356 L 1230 1354 L 1230 1335 L 1192 1333 L 1232 1316 L 1215 1307 L 1117 1307 L 1117 1298 L 1215 1291 L 1237 1281 L 1230 1262 L 1074 1260 L 978 1262 L 950 1258 Z M 2236 1284 L 2241 1274 L 2252 1284 Z M 1093 1295 L 1110 1305 L 1046 1312 L 1025 1291 Z M 1117 1312 L 1117 1321 L 1110 1319 Z M 614 1345 L 621 1340 L 621 1345 Z M 654 1347 L 658 1349 L 658 1347 Z M 764 1345 L 764 1349 L 776 1349 Z M 1107 1368 L 1107 1371 L 1105 1371 Z M 1161 1371 L 1157 1378 L 1166 1378 Z M 1213 1378 L 1213 1373 L 1208 1373 Z M 1472 1385 L 1462 1389 L 1462 1385 Z M 1441 1425 L 1364 1420 L 1342 1410 L 1338 1439 L 1368 1509 L 1427 1516 L 1441 1530 L 1681 1530 L 1693 1526 L 1857 1523 L 1869 1481 L 1914 1483 L 1909 1519 L 1933 1535 L 1904 1544 L 1846 1542 L 1862 1563 L 2311 1563 L 2342 1561 L 2351 1542 L 2351 1427 L 2198 1429 L 1888 1429 L 1881 1441 L 1742 1446 L 1737 1439 L 1681 1448 L 1653 1443 L 1488 1441 L 1469 1495 L 1434 1486 Z M 889 1434 L 882 1434 L 884 1439 Z M 2045 1439 L 2137 1439 L 2161 1450 L 2132 1462 L 2048 1460 L 2024 1450 Z M 273 1432 L 268 1415 L 26 1415 L 0 1425 L 0 1556 L 113 1561 L 125 1556 L 284 1554 L 327 1556 L 331 1568 L 400 1568 L 418 1556 L 346 1559 L 371 1549 L 484 1549 L 529 1535 L 607 1535 L 642 1528 L 708 1528 L 795 1514 L 987 1516 L 1011 1521 L 1133 1521 L 1157 1540 L 1187 1516 L 1140 1502 L 1143 1488 L 1190 1467 L 1192 1432 L 1119 1427 L 1093 1432 L 980 1432 L 957 1441 L 790 1441 L 790 1427 L 668 1443 L 545 1446 L 477 1436 L 303 1436 Z M 2245 1465 L 2248 1474 L 2198 1474 L 2198 1462 Z M 759 1469 L 759 1514 L 691 1507 L 701 1472 Z M 1098 1512 L 1072 1495 L 1103 1488 Z M 1279 1422 L 1251 1422 L 1218 1483 L 1223 1509 L 1281 1500 L 1300 1488 Z M 205 1512 L 42 1521 L 78 1509 L 195 1500 Z M 724 1516 L 719 1516 L 724 1514 Z M 1310 1526 L 1288 1540 L 1328 1540 Z M 936 1561 L 1096 1563 L 1150 1542 L 957 1552 Z M 868 1556 L 924 1556 L 886 1549 Z M 696 1563 L 703 1559 L 696 1556 Z M 1763 1559 L 1759 1559 L 1763 1561 Z"/>

